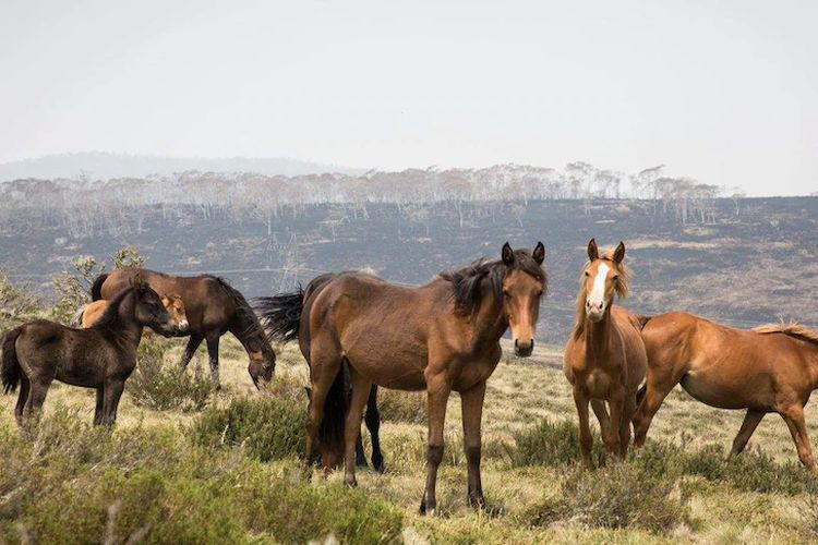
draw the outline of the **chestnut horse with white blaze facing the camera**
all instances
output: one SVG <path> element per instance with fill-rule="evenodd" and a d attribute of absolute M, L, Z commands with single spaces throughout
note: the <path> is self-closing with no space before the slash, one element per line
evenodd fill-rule
<path fill-rule="evenodd" d="M 588 264 L 582 269 L 577 295 L 576 322 L 565 347 L 563 371 L 574 387 L 579 416 L 579 445 L 589 468 L 591 436 L 588 403 L 599 420 L 609 452 L 627 455 L 630 419 L 645 378 L 647 355 L 639 336 L 640 323 L 630 311 L 614 305 L 614 296 L 628 295 L 630 269 L 623 263 L 625 244 L 600 256 L 597 241 L 588 243 Z M 605 401 L 611 409 L 609 417 Z"/>

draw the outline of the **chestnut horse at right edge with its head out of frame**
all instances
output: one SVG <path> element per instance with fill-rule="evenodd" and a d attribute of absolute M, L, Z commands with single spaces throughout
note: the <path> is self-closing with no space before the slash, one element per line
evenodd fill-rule
<path fill-rule="evenodd" d="M 818 332 L 794 323 L 747 331 L 683 312 L 646 316 L 642 325 L 648 374 L 634 417 L 637 447 L 664 398 L 681 384 L 710 407 L 747 410 L 731 456 L 744 450 L 765 414 L 777 412 L 801 462 L 816 473 L 804 405 L 818 388 Z"/>

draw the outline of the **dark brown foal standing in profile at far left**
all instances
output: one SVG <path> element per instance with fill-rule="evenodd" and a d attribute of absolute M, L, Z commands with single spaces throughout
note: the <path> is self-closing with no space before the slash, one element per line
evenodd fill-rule
<path fill-rule="evenodd" d="M 38 413 L 55 379 L 97 390 L 95 425 L 112 425 L 125 380 L 136 366 L 142 329 L 175 331 L 159 295 L 136 277 L 113 298 L 92 327 L 75 329 L 37 319 L 9 331 L 3 339 L 0 380 L 7 393 L 20 385 L 14 414 L 22 426 Z"/>

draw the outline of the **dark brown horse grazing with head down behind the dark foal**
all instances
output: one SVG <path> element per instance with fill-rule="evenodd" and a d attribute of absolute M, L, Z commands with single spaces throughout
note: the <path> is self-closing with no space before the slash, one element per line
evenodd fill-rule
<path fill-rule="evenodd" d="M 258 387 L 258 378 L 273 379 L 276 353 L 267 341 L 253 308 L 244 296 L 227 280 L 212 276 L 169 276 L 154 270 L 121 268 L 97 277 L 92 286 L 94 301 L 110 299 L 131 278 L 142 275 L 151 287 L 160 293 L 178 293 L 184 301 L 190 336 L 182 355 L 181 366 L 187 367 L 203 340 L 207 341 L 210 376 L 217 388 L 219 383 L 219 339 L 230 331 L 239 339 L 250 356 L 248 372 Z"/>

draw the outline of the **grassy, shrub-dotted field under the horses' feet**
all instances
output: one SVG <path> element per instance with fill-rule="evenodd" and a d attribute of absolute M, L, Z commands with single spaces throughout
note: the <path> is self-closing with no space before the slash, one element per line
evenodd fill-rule
<path fill-rule="evenodd" d="M 167 342 L 171 348 L 164 358 L 170 364 L 183 341 Z M 200 352 L 192 365 L 204 362 Z M 282 348 L 276 380 L 262 392 L 253 388 L 246 358 L 231 337 L 222 343 L 221 366 L 225 388 L 208 398 L 204 411 L 190 405 L 156 411 L 135 404 L 127 391 L 110 435 L 86 425 L 93 416 L 91 390 L 55 386 L 29 438 L 21 436 L 12 416 L 16 396 L 1 397 L 0 542 L 818 538 L 818 486 L 797 464 L 778 415 L 761 423 L 748 455 L 726 463 L 724 451 L 743 413 L 707 408 L 676 390 L 657 415 L 646 451 L 594 472 L 578 468 L 576 415 L 558 347 L 540 348 L 529 360 L 504 356 L 489 382 L 485 512 L 466 504 L 459 399 L 453 396 L 436 518 L 417 513 L 425 474 L 421 393 L 382 392 L 387 470 L 359 471 L 359 487 L 349 491 L 337 473 L 325 480 L 315 472 L 310 481 L 299 475 L 308 379 L 294 346 Z M 265 402 L 273 409 L 260 404 Z M 261 408 L 255 413 L 248 409 L 255 405 Z M 813 437 L 817 412 L 807 411 Z M 264 437 L 243 440 L 244 429 L 248 437 L 256 432 Z"/>

